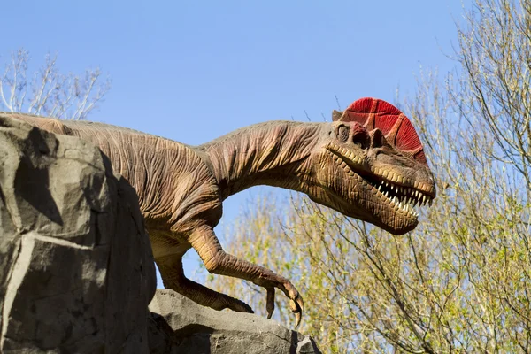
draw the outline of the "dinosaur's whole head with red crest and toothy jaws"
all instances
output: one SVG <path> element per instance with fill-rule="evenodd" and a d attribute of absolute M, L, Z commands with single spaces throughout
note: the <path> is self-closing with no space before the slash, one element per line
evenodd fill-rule
<path fill-rule="evenodd" d="M 333 112 L 311 162 L 313 201 L 395 235 L 416 227 L 414 207 L 435 198 L 419 136 L 385 101 L 362 98 Z"/>

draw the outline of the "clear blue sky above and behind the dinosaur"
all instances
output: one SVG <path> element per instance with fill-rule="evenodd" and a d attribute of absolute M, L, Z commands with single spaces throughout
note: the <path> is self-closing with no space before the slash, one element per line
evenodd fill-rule
<path fill-rule="evenodd" d="M 468 1 L 464 4 L 468 6 Z M 271 119 L 329 119 L 362 96 L 412 93 L 419 66 L 454 65 L 459 0 L 0 0 L 0 62 L 58 54 L 63 72 L 100 66 L 112 89 L 90 120 L 196 145 Z M 407 114 L 407 112 L 406 112 Z M 427 118 L 429 119 L 429 118 Z M 230 224 L 250 193 L 230 197 Z M 221 235 L 223 227 L 216 229 Z M 189 252 L 190 253 L 190 252 Z M 194 278 L 195 255 L 185 262 Z M 159 284 L 160 285 L 160 284 Z"/>

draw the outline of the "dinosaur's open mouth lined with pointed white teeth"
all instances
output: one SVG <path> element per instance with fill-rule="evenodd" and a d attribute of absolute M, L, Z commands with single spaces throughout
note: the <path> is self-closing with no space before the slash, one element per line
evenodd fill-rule
<path fill-rule="evenodd" d="M 419 212 L 413 208 L 417 204 L 419 206 L 432 204 L 433 196 L 426 191 L 426 184 L 404 179 L 396 173 L 381 169 L 368 172 L 362 167 L 363 161 L 348 150 L 334 149 L 329 152 L 336 164 L 350 176 L 358 177 L 366 189 L 373 189 L 373 194 L 381 200 L 381 203 L 389 205 L 396 213 L 404 214 L 408 219 L 417 219 Z"/>

